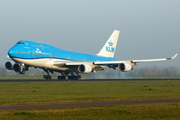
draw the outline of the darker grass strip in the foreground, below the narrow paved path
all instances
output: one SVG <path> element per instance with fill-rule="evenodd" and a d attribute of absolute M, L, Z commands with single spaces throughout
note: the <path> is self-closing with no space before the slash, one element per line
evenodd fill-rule
<path fill-rule="evenodd" d="M 0 110 L 1 120 L 179 120 L 180 103 Z"/>

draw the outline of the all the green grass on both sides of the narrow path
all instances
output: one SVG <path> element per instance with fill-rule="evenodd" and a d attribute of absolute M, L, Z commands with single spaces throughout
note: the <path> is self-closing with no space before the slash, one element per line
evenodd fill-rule
<path fill-rule="evenodd" d="M 180 81 L 1 82 L 0 105 L 180 98 Z M 0 119 L 180 119 L 180 103 L 0 110 Z"/>

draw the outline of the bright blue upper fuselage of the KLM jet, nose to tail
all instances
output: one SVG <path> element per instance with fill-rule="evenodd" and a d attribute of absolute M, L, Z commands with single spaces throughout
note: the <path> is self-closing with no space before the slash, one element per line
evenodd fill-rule
<path fill-rule="evenodd" d="M 73 51 L 62 50 L 57 47 L 26 40 L 18 41 L 9 51 L 11 58 L 21 59 L 63 59 L 71 61 L 115 61 L 115 58 L 102 57 Z"/>

